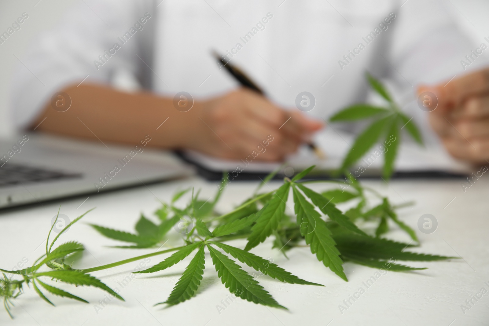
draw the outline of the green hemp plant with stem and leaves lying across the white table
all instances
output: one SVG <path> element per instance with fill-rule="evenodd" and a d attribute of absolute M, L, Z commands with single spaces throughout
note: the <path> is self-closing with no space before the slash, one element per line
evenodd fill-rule
<path fill-rule="evenodd" d="M 228 182 L 226 177 L 223 178 L 222 185 L 212 202 L 200 199 L 200 192 L 194 193 L 192 190 L 186 206 L 178 208 L 177 201 L 190 190 L 180 191 L 169 204 L 163 203 L 155 212 L 158 224 L 148 217 L 141 216 L 135 224 L 135 233 L 92 225 L 108 239 L 132 243 L 122 247 L 126 250 L 158 247 L 172 232 L 181 237 L 178 246 L 170 249 L 102 266 L 76 269 L 73 268 L 73 262 L 78 258 L 78 254 L 83 252 L 83 245 L 68 241 L 54 249 L 53 246 L 60 235 L 89 213 L 88 211 L 69 223 L 48 245 L 51 234 L 49 231 L 46 252 L 31 267 L 18 271 L 0 269 L 3 272 L 3 277 L 0 278 L 0 297 L 3 298 L 5 309 L 11 315 L 12 299 L 18 298 L 23 293 L 24 285 L 29 288 L 32 285 L 34 291 L 48 304 L 53 304 L 48 295 L 87 303 L 85 299 L 56 287 L 56 283 L 94 286 L 119 300 L 124 300 L 116 291 L 89 273 L 170 252 L 174 253 L 154 266 L 134 272 L 138 274 L 161 272 L 193 255 L 169 296 L 156 304 L 175 305 L 195 296 L 205 267 L 205 252 L 208 252 L 218 277 L 231 293 L 255 304 L 287 309 L 258 282 L 258 276 L 267 275 L 291 284 L 324 285 L 306 281 L 250 252 L 269 237 L 273 238 L 272 247 L 279 248 L 284 254 L 296 246 L 308 246 L 311 254 L 318 261 L 345 281 L 348 281 L 343 269 L 345 261 L 373 268 L 380 268 L 389 262 L 392 271 L 414 271 L 425 268 L 410 267 L 390 261 L 440 261 L 452 258 L 406 251 L 406 248 L 417 244 L 383 238 L 382 236 L 388 231 L 387 221 L 390 219 L 419 242 L 414 231 L 397 217 L 395 209 L 400 206 L 392 205 L 387 198 L 380 196 L 374 190 L 362 187 L 355 178 L 351 178 L 350 182 L 302 180 L 313 168 L 312 166 L 304 170 L 292 179 L 285 178 L 283 184 L 276 190 L 266 193 L 255 191 L 250 198 L 225 214 L 219 214 L 215 206 Z M 351 185 L 353 190 L 333 189 L 318 193 L 308 187 L 311 182 L 336 183 L 342 188 Z M 262 185 L 263 183 L 260 187 Z M 369 192 L 378 197 L 379 205 L 369 206 L 366 196 Z M 293 208 L 288 206 L 290 195 Z M 354 205 L 344 212 L 336 207 L 337 203 L 348 202 Z M 191 222 L 180 228 L 179 223 L 182 219 Z M 356 222 L 362 219 L 378 223 L 375 234 L 369 234 L 368 230 L 362 230 L 356 225 Z M 247 243 L 244 248 L 225 243 L 231 239 L 246 239 Z M 242 268 L 243 264 L 253 268 L 257 273 L 249 274 Z"/>

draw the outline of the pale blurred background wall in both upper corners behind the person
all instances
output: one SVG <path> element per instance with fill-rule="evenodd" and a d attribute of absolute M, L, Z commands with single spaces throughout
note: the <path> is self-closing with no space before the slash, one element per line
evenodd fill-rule
<path fill-rule="evenodd" d="M 6 30 L 23 12 L 29 18 L 7 42 L 0 44 L 0 137 L 14 132 L 9 114 L 9 93 L 13 74 L 22 64 L 21 58 L 29 44 L 40 33 L 53 28 L 63 17 L 65 10 L 83 0 L 16 0 L 0 1 L 0 31 Z M 343 0 L 331 0 L 335 2 Z M 409 0 L 408 0 L 409 1 Z M 452 5 L 454 17 L 459 20 L 473 41 L 477 44 L 489 37 L 489 1 L 487 0 L 446 0 Z M 17 57 L 17 58 L 16 58 Z M 25 68 L 25 67 L 24 67 Z M 26 68 L 25 68 L 26 69 Z"/>

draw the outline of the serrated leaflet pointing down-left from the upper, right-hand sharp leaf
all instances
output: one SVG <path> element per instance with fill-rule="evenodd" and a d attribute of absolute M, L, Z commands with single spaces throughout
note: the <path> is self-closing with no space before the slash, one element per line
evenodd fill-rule
<path fill-rule="evenodd" d="M 260 211 L 260 217 L 251 228 L 248 243 L 244 250 L 248 251 L 265 241 L 273 230 L 277 229 L 279 222 L 284 218 L 286 202 L 289 197 L 290 183 L 283 184 L 275 192 L 275 196 Z"/>

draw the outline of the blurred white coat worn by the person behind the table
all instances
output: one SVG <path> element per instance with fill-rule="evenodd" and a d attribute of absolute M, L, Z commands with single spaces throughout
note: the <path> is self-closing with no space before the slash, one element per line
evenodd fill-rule
<path fill-rule="evenodd" d="M 216 50 L 285 108 L 294 108 L 298 93 L 312 93 L 308 114 L 318 118 L 364 101 L 368 70 L 390 82 L 427 136 L 416 87 L 487 63 L 481 56 L 461 65 L 477 44 L 446 1 L 160 1 L 85 0 L 69 10 L 22 58 L 28 69 L 21 66 L 13 83 L 15 125 L 31 124 L 55 91 L 85 78 L 119 86 L 125 80 L 127 87 L 121 76 L 129 75 L 133 86 L 172 98 L 180 91 L 195 99 L 222 94 L 238 85 L 210 55 Z"/>

